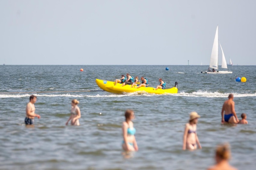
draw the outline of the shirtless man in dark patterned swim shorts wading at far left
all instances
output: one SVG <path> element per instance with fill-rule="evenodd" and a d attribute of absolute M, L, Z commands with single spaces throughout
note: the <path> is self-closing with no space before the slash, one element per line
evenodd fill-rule
<path fill-rule="evenodd" d="M 26 125 L 33 125 L 34 124 L 34 118 L 37 117 L 40 119 L 40 115 L 35 114 L 35 105 L 34 103 L 36 102 L 36 96 L 31 95 L 29 98 L 29 103 L 27 104 L 26 107 L 26 118 L 25 118 L 25 124 Z"/>

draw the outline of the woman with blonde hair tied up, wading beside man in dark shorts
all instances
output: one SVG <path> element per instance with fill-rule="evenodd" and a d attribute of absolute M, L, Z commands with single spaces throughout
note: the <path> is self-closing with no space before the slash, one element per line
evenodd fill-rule
<path fill-rule="evenodd" d="M 66 125 L 69 124 L 69 121 L 71 120 L 71 125 L 79 126 L 79 118 L 81 118 L 81 112 L 77 104 L 79 101 L 77 99 L 72 100 L 71 102 L 71 116 L 69 117 L 69 120 L 66 122 Z"/>

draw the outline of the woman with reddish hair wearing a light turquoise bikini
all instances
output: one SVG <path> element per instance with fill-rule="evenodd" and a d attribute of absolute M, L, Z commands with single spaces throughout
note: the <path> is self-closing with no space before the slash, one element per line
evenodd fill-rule
<path fill-rule="evenodd" d="M 123 122 L 123 143 L 122 147 L 125 151 L 138 151 L 138 145 L 135 139 L 134 134 L 136 133 L 136 129 L 133 127 L 132 120 L 134 119 L 133 110 L 126 110 L 125 121 Z"/>

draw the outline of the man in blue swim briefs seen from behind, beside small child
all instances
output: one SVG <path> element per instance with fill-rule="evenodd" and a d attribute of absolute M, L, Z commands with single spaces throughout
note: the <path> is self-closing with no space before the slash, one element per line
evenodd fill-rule
<path fill-rule="evenodd" d="M 230 94 L 228 96 L 228 100 L 226 100 L 223 104 L 222 110 L 221 110 L 221 123 L 227 122 L 227 123 L 233 123 L 236 124 L 239 122 L 236 111 L 235 111 L 235 102 L 233 101 L 234 95 Z M 224 114 L 225 111 L 225 114 Z"/>

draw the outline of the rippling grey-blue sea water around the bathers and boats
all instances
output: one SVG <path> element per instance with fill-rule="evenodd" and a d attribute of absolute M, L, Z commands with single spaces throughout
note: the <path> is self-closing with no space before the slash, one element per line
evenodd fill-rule
<path fill-rule="evenodd" d="M 256 66 L 228 66 L 232 74 L 202 74 L 208 66 L 0 66 L 0 169 L 206 169 L 215 163 L 216 145 L 229 142 L 230 164 L 255 169 Z M 84 72 L 79 70 L 83 68 Z M 129 72 L 178 82 L 178 94 L 112 94 L 95 79 L 114 81 Z M 246 77 L 246 83 L 236 82 Z M 221 125 L 221 108 L 233 93 L 238 117 L 248 125 Z M 37 96 L 35 126 L 24 125 L 30 95 Z M 71 100 L 78 99 L 80 126 L 66 126 Z M 124 156 L 122 122 L 135 112 L 139 151 Z M 183 151 L 189 113 L 201 115 L 202 149 Z M 102 114 L 100 114 L 102 113 Z"/>

